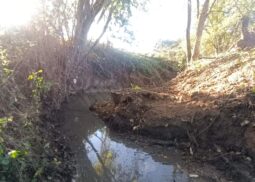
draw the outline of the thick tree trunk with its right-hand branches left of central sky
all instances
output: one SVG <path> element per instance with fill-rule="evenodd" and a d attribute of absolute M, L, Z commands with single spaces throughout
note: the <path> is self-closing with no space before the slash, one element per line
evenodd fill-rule
<path fill-rule="evenodd" d="M 132 8 L 144 7 L 148 0 L 78 0 L 76 12 L 75 47 L 83 49 L 87 45 L 88 33 L 95 22 L 104 18 L 102 33 L 96 43 L 106 32 L 110 22 L 115 21 L 125 26 L 132 15 Z"/>

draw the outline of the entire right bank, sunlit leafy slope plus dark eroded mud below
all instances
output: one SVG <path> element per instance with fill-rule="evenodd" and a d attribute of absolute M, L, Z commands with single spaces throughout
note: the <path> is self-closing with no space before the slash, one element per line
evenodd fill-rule
<path fill-rule="evenodd" d="M 114 130 L 166 140 L 230 180 L 254 181 L 254 68 L 251 53 L 205 60 L 160 88 L 114 92 L 91 109 Z"/>

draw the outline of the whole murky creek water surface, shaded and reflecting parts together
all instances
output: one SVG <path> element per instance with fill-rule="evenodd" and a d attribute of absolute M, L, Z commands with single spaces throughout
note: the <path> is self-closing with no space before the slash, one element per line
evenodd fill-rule
<path fill-rule="evenodd" d="M 141 144 L 109 131 L 89 111 L 89 105 L 105 99 L 110 99 L 107 94 L 86 94 L 70 98 L 64 106 L 64 132 L 77 161 L 73 181 L 207 181 L 183 170 L 174 149 Z"/>

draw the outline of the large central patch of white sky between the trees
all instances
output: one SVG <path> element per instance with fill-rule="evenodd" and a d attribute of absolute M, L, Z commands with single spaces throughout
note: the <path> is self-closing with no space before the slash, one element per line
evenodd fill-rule
<path fill-rule="evenodd" d="M 150 52 L 159 40 L 185 36 L 185 0 L 152 0 L 147 12 L 137 11 L 130 20 L 138 50 Z"/>

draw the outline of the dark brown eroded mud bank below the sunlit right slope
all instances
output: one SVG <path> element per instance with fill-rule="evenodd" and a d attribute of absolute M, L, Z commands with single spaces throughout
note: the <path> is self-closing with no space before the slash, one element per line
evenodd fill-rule
<path fill-rule="evenodd" d="M 91 110 L 115 131 L 167 141 L 217 167 L 229 180 L 255 180 L 254 95 L 179 100 L 152 91 L 112 93 Z"/>

